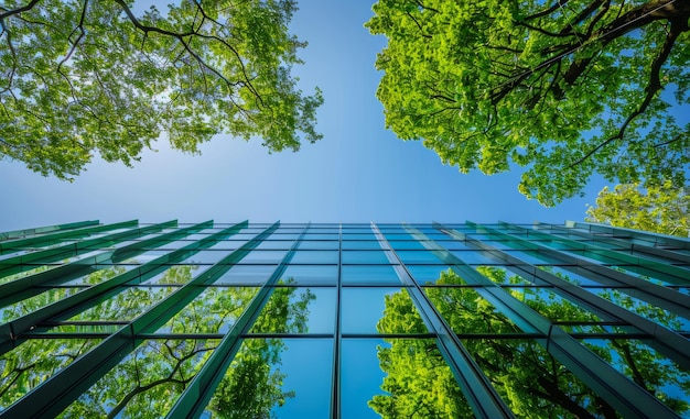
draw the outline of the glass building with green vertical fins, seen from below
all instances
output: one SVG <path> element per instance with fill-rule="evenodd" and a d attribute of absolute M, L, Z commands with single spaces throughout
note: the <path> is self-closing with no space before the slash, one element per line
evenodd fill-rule
<path fill-rule="evenodd" d="M 134 220 L 0 252 L 1 418 L 690 418 L 686 239 Z"/>

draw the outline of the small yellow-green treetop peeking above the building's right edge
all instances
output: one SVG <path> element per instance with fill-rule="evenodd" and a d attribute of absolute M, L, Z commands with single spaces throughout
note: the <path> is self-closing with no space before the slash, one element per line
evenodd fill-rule
<path fill-rule="evenodd" d="M 640 188 L 638 184 L 605 187 L 596 207 L 587 208 L 586 221 L 656 233 L 690 236 L 690 190 L 670 181 Z"/>

